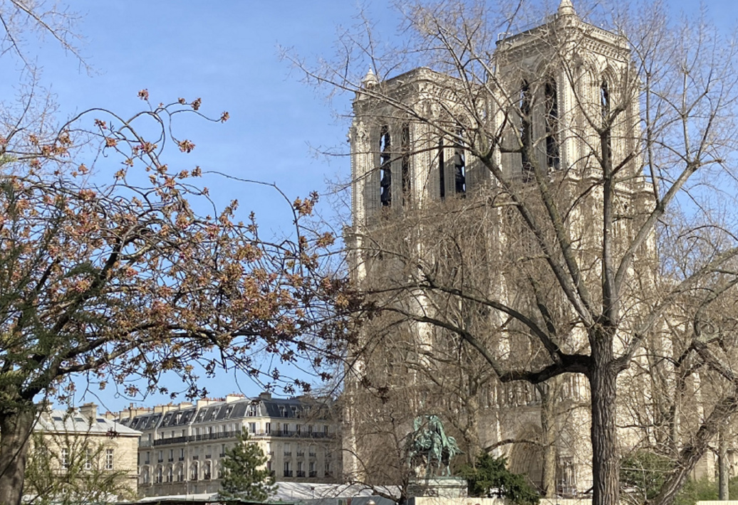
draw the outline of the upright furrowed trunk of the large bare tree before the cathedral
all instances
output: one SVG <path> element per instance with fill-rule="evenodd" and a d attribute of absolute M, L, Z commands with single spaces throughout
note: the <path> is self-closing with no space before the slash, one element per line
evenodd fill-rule
<path fill-rule="evenodd" d="M 618 458 L 615 408 L 618 372 L 613 366 L 612 339 L 600 330 L 590 339 L 592 364 L 592 505 L 618 505 L 620 459 Z"/>

